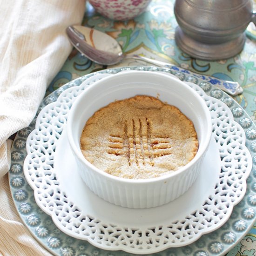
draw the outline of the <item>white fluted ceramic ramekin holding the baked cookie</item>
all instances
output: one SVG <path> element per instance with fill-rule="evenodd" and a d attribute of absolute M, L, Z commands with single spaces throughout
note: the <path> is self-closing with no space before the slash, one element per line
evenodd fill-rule
<path fill-rule="evenodd" d="M 82 155 L 80 137 L 88 118 L 112 101 L 138 94 L 154 96 L 174 105 L 194 123 L 198 152 L 191 162 L 169 175 L 124 179 L 101 171 Z M 67 138 L 83 181 L 99 197 L 128 208 L 160 206 L 186 192 L 199 174 L 211 132 L 209 109 L 194 89 L 168 74 L 148 71 L 121 72 L 95 82 L 75 99 L 67 120 Z"/>

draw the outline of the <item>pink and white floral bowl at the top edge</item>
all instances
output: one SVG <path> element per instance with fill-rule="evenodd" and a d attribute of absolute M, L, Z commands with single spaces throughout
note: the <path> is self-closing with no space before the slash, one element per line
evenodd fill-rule
<path fill-rule="evenodd" d="M 112 20 L 129 20 L 141 14 L 151 0 L 89 0 L 96 12 Z"/>

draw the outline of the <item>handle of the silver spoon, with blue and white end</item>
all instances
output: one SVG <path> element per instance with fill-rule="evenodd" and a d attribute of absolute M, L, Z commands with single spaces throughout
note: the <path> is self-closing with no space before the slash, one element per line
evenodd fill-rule
<path fill-rule="evenodd" d="M 224 92 L 226 92 L 230 95 L 233 95 L 233 96 L 243 93 L 243 88 L 240 86 L 240 84 L 238 82 L 221 80 L 216 77 L 205 75 L 205 74 L 197 74 L 188 69 L 185 69 L 182 67 L 177 67 L 171 63 L 149 59 L 147 57 L 140 56 L 137 54 L 134 54 L 132 56 L 126 55 L 126 58 L 132 58 L 135 60 L 146 61 L 146 62 L 154 64 L 155 66 L 158 66 L 158 67 L 167 67 L 167 68 L 170 68 L 170 69 L 178 71 L 178 72 L 190 74 L 190 75 L 194 76 L 195 78 L 200 78 L 202 80 L 205 80 L 206 82 L 209 82 L 210 84 L 215 85 L 217 88 L 220 88 Z"/>

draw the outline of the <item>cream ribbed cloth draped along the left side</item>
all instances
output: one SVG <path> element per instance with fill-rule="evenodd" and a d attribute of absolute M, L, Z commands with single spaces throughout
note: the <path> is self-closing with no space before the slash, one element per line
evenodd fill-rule
<path fill-rule="evenodd" d="M 7 139 L 32 121 L 72 49 L 65 29 L 81 23 L 84 9 L 85 0 L 0 0 L 0 255 L 50 255 L 14 207 Z"/>

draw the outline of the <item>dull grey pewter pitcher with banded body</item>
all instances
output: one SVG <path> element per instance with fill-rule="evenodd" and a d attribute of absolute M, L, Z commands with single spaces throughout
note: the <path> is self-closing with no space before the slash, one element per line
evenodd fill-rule
<path fill-rule="evenodd" d="M 245 29 L 256 23 L 252 0 L 176 0 L 175 40 L 202 60 L 230 58 L 243 49 Z"/>

